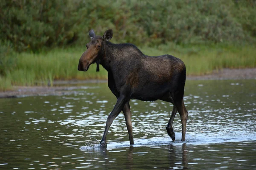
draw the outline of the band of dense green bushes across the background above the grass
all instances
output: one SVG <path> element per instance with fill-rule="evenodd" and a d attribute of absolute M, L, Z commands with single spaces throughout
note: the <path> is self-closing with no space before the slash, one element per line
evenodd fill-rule
<path fill-rule="evenodd" d="M 15 51 L 84 45 L 112 28 L 136 45 L 255 42 L 255 0 L 2 0 L 0 37 Z"/>

